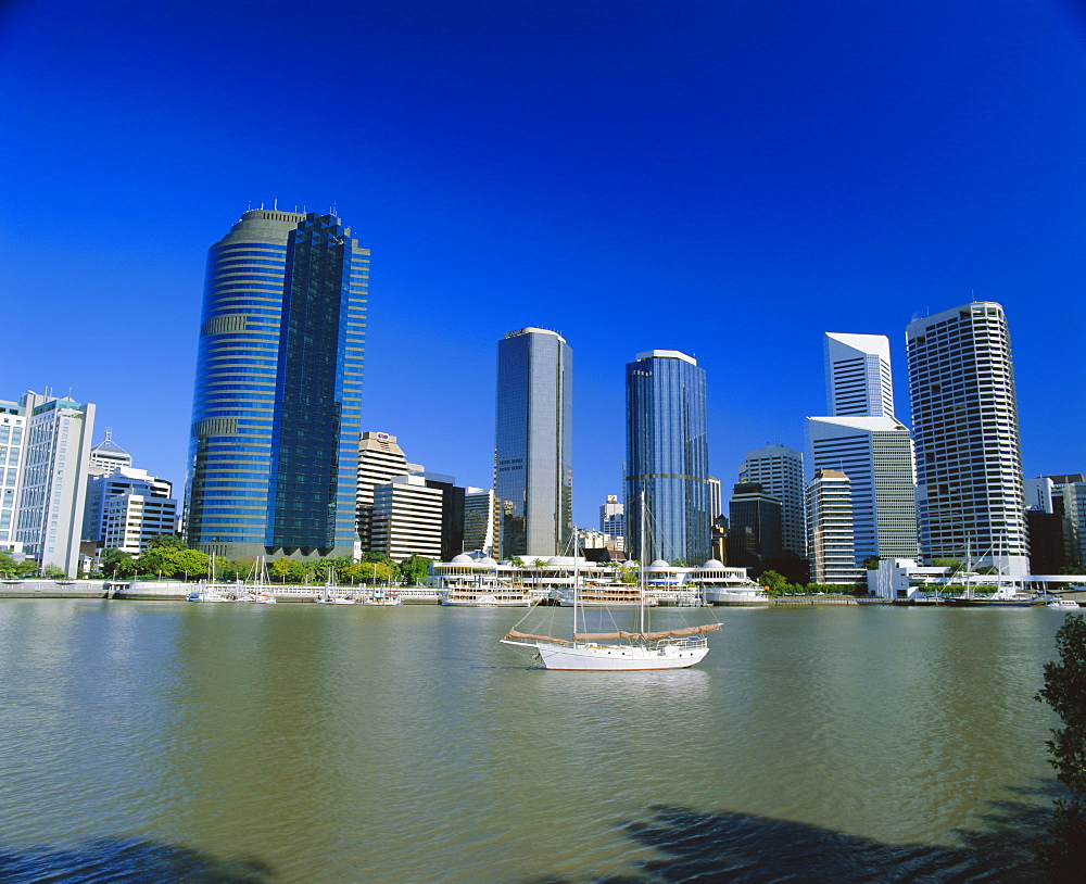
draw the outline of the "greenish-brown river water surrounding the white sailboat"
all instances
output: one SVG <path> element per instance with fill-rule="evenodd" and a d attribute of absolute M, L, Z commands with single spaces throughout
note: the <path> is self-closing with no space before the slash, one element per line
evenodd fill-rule
<path fill-rule="evenodd" d="M 716 614 L 697 669 L 591 673 L 527 668 L 501 609 L 4 599 L 0 877 L 965 880 L 987 832 L 1032 874 L 1062 615 Z"/>

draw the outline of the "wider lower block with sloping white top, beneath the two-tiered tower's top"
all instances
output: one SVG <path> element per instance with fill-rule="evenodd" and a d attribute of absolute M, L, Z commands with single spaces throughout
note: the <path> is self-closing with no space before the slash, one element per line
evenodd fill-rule
<path fill-rule="evenodd" d="M 915 558 L 915 478 L 905 425 L 893 416 L 809 417 L 807 440 L 815 470 L 848 476 L 856 564 Z"/>

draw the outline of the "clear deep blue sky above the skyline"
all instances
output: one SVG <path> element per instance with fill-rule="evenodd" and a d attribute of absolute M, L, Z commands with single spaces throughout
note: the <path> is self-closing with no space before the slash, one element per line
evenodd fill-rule
<path fill-rule="evenodd" d="M 372 249 L 364 429 L 490 487 L 496 341 L 574 352 L 574 517 L 623 366 L 708 376 L 710 466 L 803 447 L 822 333 L 975 296 L 1027 476 L 1086 471 L 1086 14 L 1064 0 L 0 8 L 0 397 L 68 388 L 184 481 L 207 247 L 252 203 Z"/>

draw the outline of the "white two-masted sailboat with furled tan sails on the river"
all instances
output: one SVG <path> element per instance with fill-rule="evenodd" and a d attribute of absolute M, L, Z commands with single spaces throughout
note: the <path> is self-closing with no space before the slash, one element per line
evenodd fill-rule
<path fill-rule="evenodd" d="M 641 551 L 645 556 L 644 513 L 642 504 Z M 581 593 L 580 574 L 574 556 L 573 630 L 570 640 L 554 639 L 510 629 L 502 644 L 533 648 L 547 669 L 620 672 L 644 669 L 685 669 L 700 662 L 709 653 L 706 633 L 716 632 L 720 623 L 652 631 L 648 629 L 645 604 L 645 568 L 639 579 L 640 620 L 636 631 L 616 629 L 609 632 L 578 632 Z"/>

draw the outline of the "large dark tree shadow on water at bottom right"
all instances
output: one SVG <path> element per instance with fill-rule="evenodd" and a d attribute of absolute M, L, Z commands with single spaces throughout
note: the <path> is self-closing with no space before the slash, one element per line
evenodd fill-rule
<path fill-rule="evenodd" d="M 1022 799 L 992 803 L 978 831 L 948 832 L 957 846 L 886 844 L 817 825 L 736 811 L 704 812 L 656 805 L 620 823 L 656 856 L 624 875 L 586 876 L 598 884 L 646 882 L 1043 882 L 1034 844 L 1051 817 L 1048 783 L 1011 790 Z M 1037 801 L 1043 801 L 1038 805 Z M 547 884 L 574 879 L 544 877 Z"/>

